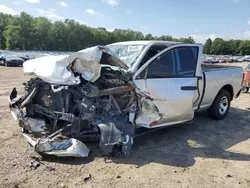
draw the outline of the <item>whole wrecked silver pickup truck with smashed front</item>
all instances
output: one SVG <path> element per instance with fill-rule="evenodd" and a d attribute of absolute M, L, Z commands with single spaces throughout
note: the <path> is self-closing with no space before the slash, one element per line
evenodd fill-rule
<path fill-rule="evenodd" d="M 21 98 L 13 89 L 10 110 L 37 152 L 86 157 L 81 141 L 98 138 L 104 151 L 127 154 L 141 128 L 188 122 L 205 109 L 227 116 L 243 69 L 201 59 L 201 44 L 129 41 L 28 60 L 24 73 L 36 78 Z"/>

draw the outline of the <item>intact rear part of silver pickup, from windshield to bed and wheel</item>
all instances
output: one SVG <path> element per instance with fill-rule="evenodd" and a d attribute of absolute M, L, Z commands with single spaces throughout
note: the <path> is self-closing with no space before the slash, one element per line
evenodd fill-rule
<path fill-rule="evenodd" d="M 137 88 L 162 114 L 148 128 L 190 121 L 194 112 L 205 109 L 214 119 L 223 119 L 239 96 L 242 68 L 203 65 L 202 44 L 133 41 L 108 47 L 130 67 Z"/>

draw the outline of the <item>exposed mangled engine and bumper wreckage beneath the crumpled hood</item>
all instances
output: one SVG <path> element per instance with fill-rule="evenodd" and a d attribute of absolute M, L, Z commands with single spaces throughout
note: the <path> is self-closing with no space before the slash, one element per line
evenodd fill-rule
<path fill-rule="evenodd" d="M 101 81 L 98 84 L 104 85 Z M 26 95 L 11 105 L 26 139 L 37 152 L 86 157 L 89 150 L 81 141 L 100 139 L 107 153 L 116 145 L 129 153 L 134 135 L 128 116 L 131 105 L 135 105 L 133 86 L 99 90 L 85 83 L 54 92 L 57 87 L 62 86 L 31 79 L 25 86 Z"/>

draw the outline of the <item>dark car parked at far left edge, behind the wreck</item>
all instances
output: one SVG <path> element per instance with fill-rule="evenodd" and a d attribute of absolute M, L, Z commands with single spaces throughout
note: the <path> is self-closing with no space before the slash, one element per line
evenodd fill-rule
<path fill-rule="evenodd" d="M 0 64 L 4 66 L 23 66 L 24 60 L 16 55 L 1 54 Z"/>

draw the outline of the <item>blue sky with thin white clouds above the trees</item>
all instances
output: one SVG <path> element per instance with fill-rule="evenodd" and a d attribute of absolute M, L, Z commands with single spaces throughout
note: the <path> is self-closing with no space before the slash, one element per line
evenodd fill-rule
<path fill-rule="evenodd" d="M 250 40 L 250 0 L 0 0 L 0 12 L 144 34 Z"/>

